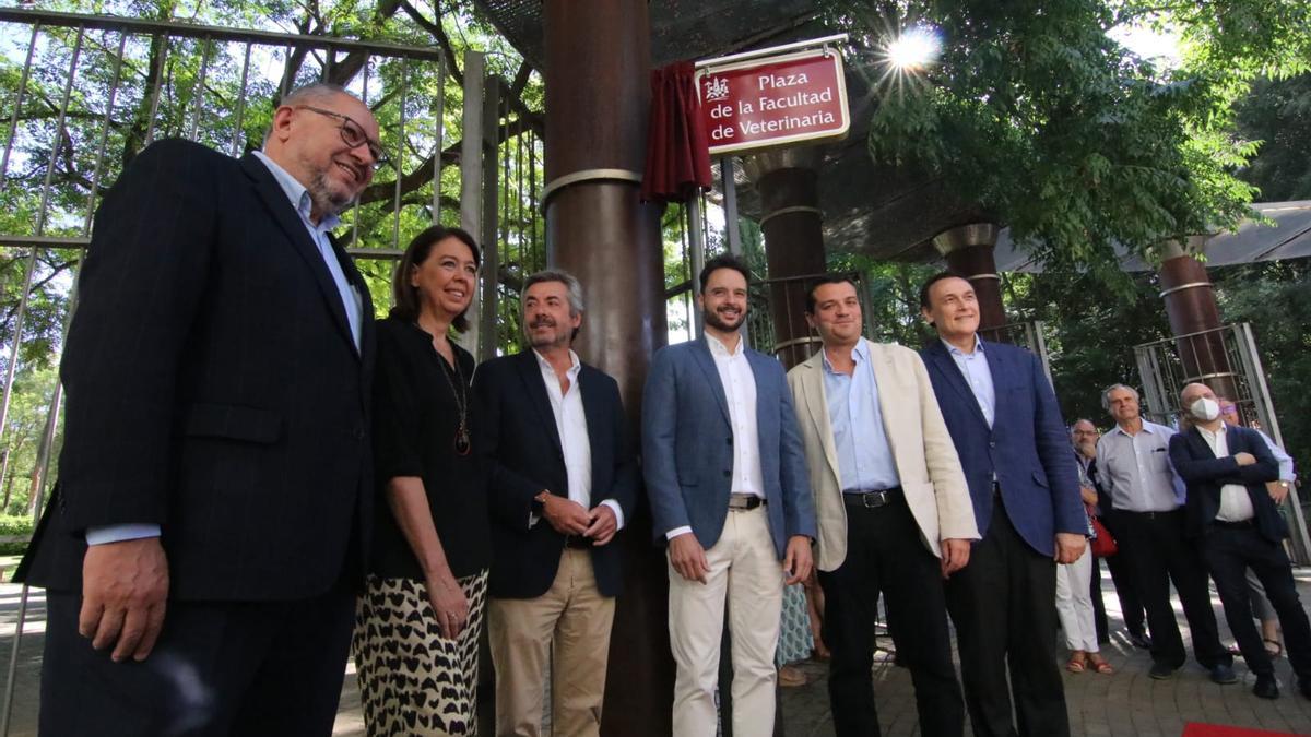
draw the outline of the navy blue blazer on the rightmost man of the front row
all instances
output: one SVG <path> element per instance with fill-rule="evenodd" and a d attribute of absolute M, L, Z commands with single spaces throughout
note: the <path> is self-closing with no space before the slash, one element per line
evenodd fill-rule
<path fill-rule="evenodd" d="M 920 355 L 965 468 L 979 534 L 986 535 L 992 522 L 994 473 L 1011 523 L 1033 549 L 1050 556 L 1057 532 L 1086 534 L 1079 469 L 1038 357 L 983 341 L 996 392 L 996 417 L 988 428 L 943 341 L 935 340 Z"/>

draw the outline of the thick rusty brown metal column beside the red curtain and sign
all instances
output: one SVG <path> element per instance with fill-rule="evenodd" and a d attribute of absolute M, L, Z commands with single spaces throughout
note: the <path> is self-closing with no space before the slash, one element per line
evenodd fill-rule
<path fill-rule="evenodd" d="M 574 348 L 619 380 L 633 438 L 652 353 L 667 340 L 661 207 L 638 203 L 650 104 L 644 0 L 545 0 L 547 258 L 578 277 Z M 624 593 L 611 633 L 602 734 L 671 732 L 669 578 L 645 498 L 620 536 Z"/>

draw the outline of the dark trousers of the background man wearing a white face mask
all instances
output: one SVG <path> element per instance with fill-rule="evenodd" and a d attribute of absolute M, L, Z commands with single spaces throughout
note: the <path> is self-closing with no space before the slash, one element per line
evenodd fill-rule
<path fill-rule="evenodd" d="M 1261 536 L 1255 527 L 1210 526 L 1201 540 L 1202 557 L 1215 578 L 1224 605 L 1224 619 L 1238 640 L 1248 669 L 1257 675 L 1273 674 L 1274 665 L 1252 620 L 1252 602 L 1245 570 L 1252 569 L 1265 588 L 1265 597 L 1280 616 L 1289 662 L 1301 679 L 1311 678 L 1311 623 L 1298 599 L 1293 568 L 1283 546 Z"/>

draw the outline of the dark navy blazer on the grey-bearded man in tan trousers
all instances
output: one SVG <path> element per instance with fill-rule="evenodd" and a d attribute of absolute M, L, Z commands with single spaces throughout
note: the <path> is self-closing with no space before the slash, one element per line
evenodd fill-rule
<path fill-rule="evenodd" d="M 628 525 L 638 476 L 619 384 L 583 363 L 578 389 L 591 447 L 591 506 L 612 498 Z M 479 401 L 475 447 L 486 459 L 489 473 L 489 593 L 497 598 L 536 598 L 556 580 L 565 536 L 544 519 L 528 526 L 532 497 L 543 489 L 569 496 L 560 431 L 536 354 L 526 350 L 482 363 L 473 378 L 473 392 Z M 623 580 L 617 540 L 594 546 L 591 565 L 602 595 L 616 595 Z"/>

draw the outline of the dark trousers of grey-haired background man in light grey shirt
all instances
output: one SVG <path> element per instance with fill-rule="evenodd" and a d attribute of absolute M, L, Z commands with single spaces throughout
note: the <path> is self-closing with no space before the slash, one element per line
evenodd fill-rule
<path fill-rule="evenodd" d="M 1231 665 L 1234 656 L 1221 645 L 1201 555 L 1184 538 L 1183 510 L 1117 510 L 1116 515 L 1120 522 L 1118 555 L 1125 556 L 1133 569 L 1138 595 L 1147 607 L 1152 661 L 1179 667 L 1188 660 L 1175 607 L 1169 602 L 1169 585 L 1173 582 L 1184 605 L 1197 662 L 1207 669 Z"/>

